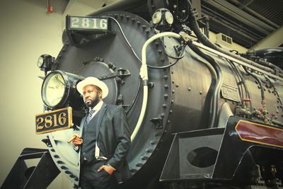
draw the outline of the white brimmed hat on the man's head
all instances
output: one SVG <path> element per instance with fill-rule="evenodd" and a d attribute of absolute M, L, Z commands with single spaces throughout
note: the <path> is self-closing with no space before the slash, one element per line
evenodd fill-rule
<path fill-rule="evenodd" d="M 96 77 L 89 76 L 86 79 L 83 79 L 83 81 L 80 81 L 79 84 L 76 85 L 76 90 L 83 95 L 83 87 L 88 85 L 94 85 L 98 86 L 102 90 L 102 98 L 105 98 L 108 96 L 108 86 L 103 82 L 97 79 Z"/>

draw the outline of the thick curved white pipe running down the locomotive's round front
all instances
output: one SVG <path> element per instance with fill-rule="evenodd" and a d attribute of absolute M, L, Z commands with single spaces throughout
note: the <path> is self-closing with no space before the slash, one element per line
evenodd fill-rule
<path fill-rule="evenodd" d="M 147 81 L 149 80 L 149 74 L 147 72 L 147 64 L 146 64 L 146 47 L 153 42 L 154 40 L 162 37 L 172 37 L 172 38 L 181 38 L 181 36 L 177 33 L 173 32 L 164 32 L 164 33 L 158 33 L 144 43 L 144 46 L 142 47 L 141 50 L 141 69 L 139 71 L 139 75 L 141 76 L 141 79 L 144 84 L 144 96 L 142 100 L 142 105 L 141 105 L 141 113 L 139 114 L 139 120 L 137 121 L 137 125 L 134 127 L 134 132 L 132 132 L 131 135 L 131 141 L 134 140 L 134 138 L 137 136 L 137 133 L 139 132 L 139 129 L 141 127 L 141 123 L 144 120 L 144 115 L 146 113 L 146 105 L 147 105 L 147 98 L 149 94 L 149 88 L 147 86 Z"/>

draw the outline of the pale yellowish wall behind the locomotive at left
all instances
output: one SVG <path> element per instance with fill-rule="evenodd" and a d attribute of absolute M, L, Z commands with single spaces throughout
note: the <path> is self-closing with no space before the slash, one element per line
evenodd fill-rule
<path fill-rule="evenodd" d="M 35 134 L 35 114 L 42 113 L 42 79 L 37 76 L 44 76 L 36 63 L 42 54 L 57 57 L 65 16 L 45 13 L 40 1 L 46 2 L 1 0 L 0 185 L 24 148 L 46 148 L 41 142 L 45 134 Z M 65 13 L 86 15 L 94 11 L 77 1 L 69 4 Z M 60 175 L 49 188 L 70 188 L 69 185 L 67 178 Z"/>

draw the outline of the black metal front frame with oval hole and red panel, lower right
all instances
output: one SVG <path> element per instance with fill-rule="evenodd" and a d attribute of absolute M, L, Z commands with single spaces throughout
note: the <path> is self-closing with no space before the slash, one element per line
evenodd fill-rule
<path fill-rule="evenodd" d="M 236 116 L 226 127 L 175 133 L 160 181 L 259 184 L 258 166 L 283 164 L 282 134 L 278 127 Z"/>

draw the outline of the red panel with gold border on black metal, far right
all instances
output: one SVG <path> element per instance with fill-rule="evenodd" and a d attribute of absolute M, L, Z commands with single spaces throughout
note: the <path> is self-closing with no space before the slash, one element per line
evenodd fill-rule
<path fill-rule="evenodd" d="M 242 140 L 283 148 L 282 129 L 240 120 L 235 130 Z"/>

